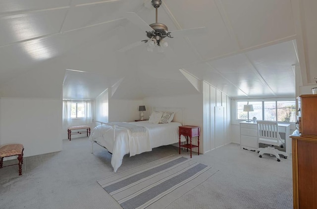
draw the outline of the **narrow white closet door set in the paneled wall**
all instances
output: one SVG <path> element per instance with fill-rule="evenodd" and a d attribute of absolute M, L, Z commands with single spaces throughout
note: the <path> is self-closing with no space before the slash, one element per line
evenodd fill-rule
<path fill-rule="evenodd" d="M 224 107 L 214 107 L 215 148 L 224 145 Z"/>

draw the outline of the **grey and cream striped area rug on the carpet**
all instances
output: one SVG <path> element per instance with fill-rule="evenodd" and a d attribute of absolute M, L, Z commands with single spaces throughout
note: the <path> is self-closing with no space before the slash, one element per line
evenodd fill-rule
<path fill-rule="evenodd" d="M 123 209 L 164 208 L 206 181 L 217 170 L 174 155 L 97 182 Z"/>

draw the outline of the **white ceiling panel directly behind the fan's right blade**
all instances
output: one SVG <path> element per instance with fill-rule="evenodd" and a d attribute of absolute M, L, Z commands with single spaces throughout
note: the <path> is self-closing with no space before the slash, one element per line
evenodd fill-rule
<path fill-rule="evenodd" d="M 203 59 L 237 51 L 214 1 L 168 0 L 166 5 L 181 28 L 207 27 L 206 33 L 188 36 Z"/>

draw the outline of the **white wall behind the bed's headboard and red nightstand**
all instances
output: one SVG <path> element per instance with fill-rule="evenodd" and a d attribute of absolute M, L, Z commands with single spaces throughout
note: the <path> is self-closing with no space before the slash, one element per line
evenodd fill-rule
<path fill-rule="evenodd" d="M 152 107 L 182 107 L 183 108 L 183 125 L 196 125 L 201 128 L 200 135 L 200 153 L 204 152 L 203 138 L 203 96 L 201 94 L 183 95 L 173 97 L 150 97 L 145 98 L 144 105 L 147 108 L 145 118 L 148 119 L 151 114 Z M 197 143 L 197 139 L 193 139 L 193 143 Z M 193 149 L 197 152 L 197 149 Z"/>

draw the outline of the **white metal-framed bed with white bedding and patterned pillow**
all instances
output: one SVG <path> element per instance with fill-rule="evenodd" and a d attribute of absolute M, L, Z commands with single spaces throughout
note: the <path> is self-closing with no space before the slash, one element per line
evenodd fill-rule
<path fill-rule="evenodd" d="M 161 117 L 157 112 L 162 112 Z M 166 116 L 164 112 L 174 113 L 171 121 L 170 118 L 167 122 L 162 119 L 164 115 Z M 99 125 L 93 128 L 89 137 L 92 142 L 92 153 L 95 143 L 104 147 L 112 154 L 111 165 L 113 171 L 116 172 L 126 154 L 130 154 L 131 157 L 152 151 L 156 147 L 178 143 L 178 127 L 182 125 L 182 122 L 179 122 L 182 121 L 181 118 L 182 108 L 154 107 L 150 120 L 130 123 L 96 121 Z M 159 123 L 156 123 L 158 120 Z M 184 141 L 186 141 L 185 137 L 181 136 L 181 142 Z"/>

